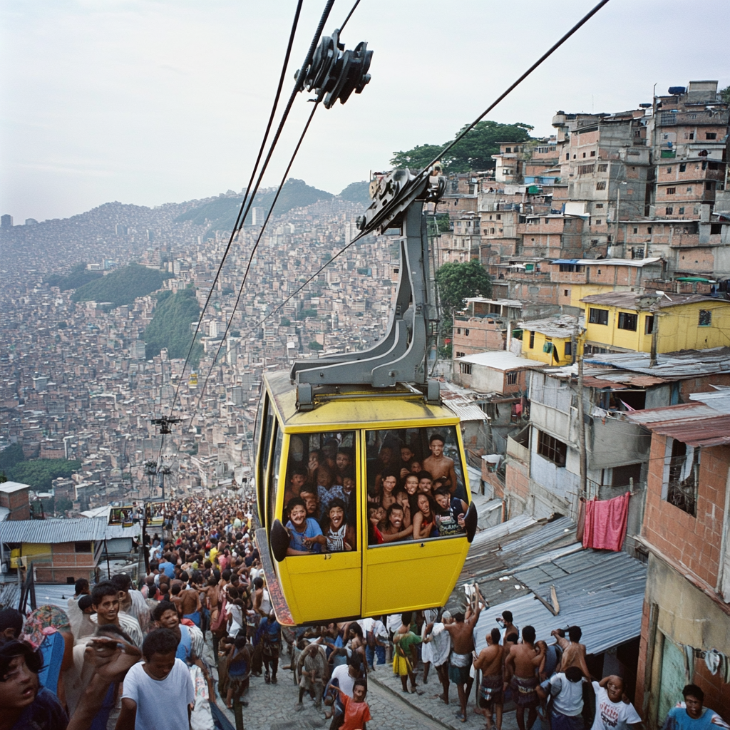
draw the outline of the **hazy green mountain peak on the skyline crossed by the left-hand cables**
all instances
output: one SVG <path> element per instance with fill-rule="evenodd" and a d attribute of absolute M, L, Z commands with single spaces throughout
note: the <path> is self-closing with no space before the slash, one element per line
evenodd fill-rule
<path fill-rule="evenodd" d="M 266 216 L 272 207 L 275 196 L 276 188 L 260 191 L 256 193 L 253 199 L 253 207 L 263 208 L 264 216 Z M 295 180 L 293 177 L 290 177 L 284 183 L 281 195 L 277 200 L 274 214 L 284 215 L 293 208 L 304 208 L 320 200 L 329 200 L 331 198 L 334 198 L 332 193 L 312 188 L 304 180 Z M 225 196 L 216 198 L 178 215 L 175 221 L 183 223 L 185 220 L 190 220 L 196 226 L 203 226 L 207 222 L 207 237 L 212 236 L 213 231 L 231 231 L 236 223 L 241 201 L 242 199 L 240 197 Z M 249 212 L 246 218 L 246 224 L 250 225 L 250 223 L 252 223 L 252 216 Z"/>

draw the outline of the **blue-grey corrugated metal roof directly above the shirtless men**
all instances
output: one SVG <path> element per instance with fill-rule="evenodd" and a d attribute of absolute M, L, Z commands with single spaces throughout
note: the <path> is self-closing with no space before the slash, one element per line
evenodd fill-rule
<path fill-rule="evenodd" d="M 512 611 L 518 626 L 534 626 L 537 638 L 548 642 L 552 642 L 551 630 L 580 626 L 581 642 L 589 654 L 602 653 L 641 632 L 646 566 L 626 553 L 580 550 L 542 566 L 518 568 L 514 578 L 531 592 L 482 612 L 475 632 L 477 651 L 485 647 L 485 634 L 497 626 L 495 618 L 504 610 Z M 555 585 L 560 604 L 557 616 L 533 595 L 550 602 L 551 585 Z"/>

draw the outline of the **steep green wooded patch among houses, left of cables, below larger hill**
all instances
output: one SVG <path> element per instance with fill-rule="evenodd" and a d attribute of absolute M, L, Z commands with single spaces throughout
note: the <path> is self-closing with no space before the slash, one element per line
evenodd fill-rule
<path fill-rule="evenodd" d="M 157 305 L 152 321 L 142 334 L 147 343 L 147 358 L 159 355 L 163 347 L 167 348 L 170 358 L 185 358 L 193 339 L 190 325 L 197 322 L 199 316 L 200 305 L 193 288 L 183 289 L 164 299 Z M 193 368 L 198 366 L 202 352 L 202 345 L 196 343 L 191 353 Z"/>

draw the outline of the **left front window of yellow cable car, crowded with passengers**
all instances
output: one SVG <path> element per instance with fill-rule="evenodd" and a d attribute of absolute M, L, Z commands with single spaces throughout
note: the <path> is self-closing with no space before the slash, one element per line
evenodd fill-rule
<path fill-rule="evenodd" d="M 287 554 L 357 550 L 355 431 L 293 435 L 286 477 Z"/>

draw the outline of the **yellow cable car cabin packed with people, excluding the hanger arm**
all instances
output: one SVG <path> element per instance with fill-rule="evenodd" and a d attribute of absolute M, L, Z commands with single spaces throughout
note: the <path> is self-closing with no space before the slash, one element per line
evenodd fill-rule
<path fill-rule="evenodd" d="M 257 542 L 280 623 L 445 604 L 477 522 L 453 412 L 402 385 L 302 412 L 275 372 L 258 419 Z"/>

